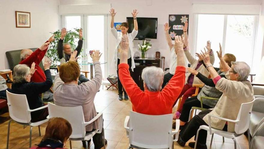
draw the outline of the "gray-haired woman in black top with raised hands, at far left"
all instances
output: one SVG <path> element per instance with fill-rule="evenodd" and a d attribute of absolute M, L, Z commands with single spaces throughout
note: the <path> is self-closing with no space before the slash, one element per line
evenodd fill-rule
<path fill-rule="evenodd" d="M 33 62 L 31 68 L 26 64 L 18 64 L 14 67 L 13 83 L 11 92 L 14 94 L 24 94 L 27 96 L 29 109 L 36 109 L 44 106 L 40 98 L 40 94 L 46 92 L 52 86 L 52 78 L 49 71 L 50 62 L 44 63 L 44 73 L 46 75 L 45 82 L 30 82 L 31 76 L 36 71 L 35 63 Z M 31 122 L 45 120 L 49 115 L 48 108 L 31 112 Z"/>

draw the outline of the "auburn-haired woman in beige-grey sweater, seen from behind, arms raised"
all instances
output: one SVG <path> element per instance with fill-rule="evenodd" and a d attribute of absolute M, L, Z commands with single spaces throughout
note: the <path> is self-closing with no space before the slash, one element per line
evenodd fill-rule
<path fill-rule="evenodd" d="M 77 51 L 71 54 L 70 60 L 67 63 L 61 64 L 59 73 L 55 76 L 54 81 L 54 104 L 59 106 L 82 106 L 85 122 L 90 121 L 96 115 L 95 95 L 98 92 L 102 82 L 102 70 L 99 59 L 101 54 L 96 50 L 92 55 L 93 66 L 95 69 L 95 77 L 88 82 L 83 82 L 78 85 L 80 76 L 80 67 L 76 62 Z M 86 126 L 86 132 L 91 132 L 99 129 L 99 120 L 94 121 Z M 88 141 L 90 143 L 91 140 Z M 104 146 L 103 133 L 96 133 L 93 136 L 95 149 L 100 149 Z M 85 147 L 85 141 L 82 141 Z"/>

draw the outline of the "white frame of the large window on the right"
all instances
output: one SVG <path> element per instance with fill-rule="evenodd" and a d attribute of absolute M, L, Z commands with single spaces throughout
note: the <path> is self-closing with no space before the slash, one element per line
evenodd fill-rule
<path fill-rule="evenodd" d="M 202 14 L 202 13 L 199 13 L 199 14 Z M 191 53 L 193 55 L 195 55 L 196 53 L 196 49 L 197 49 L 197 33 L 198 33 L 198 19 L 199 19 L 199 14 L 194 14 L 194 34 L 193 34 L 193 51 L 191 51 Z M 228 15 L 245 15 L 245 14 L 219 14 L 219 15 L 224 15 L 224 29 L 223 29 L 223 43 L 222 43 L 222 52 L 225 53 L 225 42 L 226 42 L 226 25 L 227 25 L 227 16 Z M 251 66 L 249 66 L 251 68 L 251 73 L 252 74 L 256 74 L 256 68 L 253 67 L 253 59 L 255 58 L 255 55 L 254 52 L 256 52 L 256 33 L 257 33 L 257 26 L 258 26 L 258 22 L 259 22 L 259 16 L 257 15 L 252 15 L 250 14 L 251 16 L 254 16 L 254 23 L 253 23 L 253 35 L 252 35 L 252 45 L 251 45 Z M 219 49 L 218 49 L 219 50 Z M 217 51 L 218 51 L 217 50 Z M 259 60 L 260 61 L 260 60 Z"/>

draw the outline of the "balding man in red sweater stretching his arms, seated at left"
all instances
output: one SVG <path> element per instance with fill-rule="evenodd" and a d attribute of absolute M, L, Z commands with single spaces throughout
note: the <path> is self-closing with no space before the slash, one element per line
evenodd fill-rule
<path fill-rule="evenodd" d="M 35 62 L 35 73 L 31 74 L 31 80 L 30 82 L 45 82 L 46 81 L 46 75 L 44 71 L 39 66 L 40 62 L 42 61 L 43 57 L 45 56 L 49 43 L 54 41 L 55 39 L 51 36 L 49 40 L 47 40 L 40 48 L 38 48 L 36 51 L 32 51 L 30 49 L 23 49 L 20 53 L 21 61 L 19 64 L 26 64 L 29 67 L 31 67 L 31 64 Z M 43 101 L 53 101 L 53 93 L 48 90 L 47 92 L 44 92 L 43 94 Z"/>

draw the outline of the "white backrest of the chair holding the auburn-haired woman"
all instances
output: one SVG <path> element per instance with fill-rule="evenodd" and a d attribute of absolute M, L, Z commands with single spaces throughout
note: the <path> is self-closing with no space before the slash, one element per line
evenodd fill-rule
<path fill-rule="evenodd" d="M 84 138 L 85 137 L 85 125 L 82 106 L 76 107 L 63 107 L 52 103 L 48 103 L 49 118 L 62 117 L 70 122 L 72 127 L 72 133 L 70 138 Z"/>

